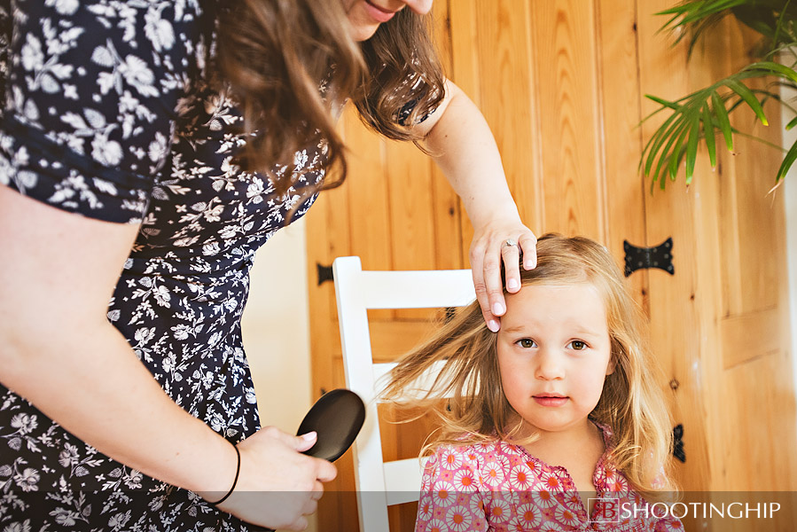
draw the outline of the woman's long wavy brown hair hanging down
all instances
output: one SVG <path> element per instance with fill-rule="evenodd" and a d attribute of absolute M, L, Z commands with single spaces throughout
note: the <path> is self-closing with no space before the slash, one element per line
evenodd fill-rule
<path fill-rule="evenodd" d="M 418 140 L 407 129 L 443 96 L 443 74 L 428 35 L 428 17 L 404 9 L 369 41 L 356 43 L 341 0 L 227 0 L 218 10 L 215 65 L 244 117 L 246 147 L 238 164 L 270 177 L 278 193 L 291 185 L 293 154 L 325 151 L 323 169 L 346 176 L 345 146 L 335 130 L 351 98 L 363 121 L 387 137 Z M 402 111 L 413 107 L 408 117 Z M 322 168 L 311 168 L 314 170 Z"/>

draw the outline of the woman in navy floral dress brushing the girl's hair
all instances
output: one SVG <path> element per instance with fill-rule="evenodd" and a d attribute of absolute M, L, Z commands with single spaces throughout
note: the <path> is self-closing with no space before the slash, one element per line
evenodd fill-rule
<path fill-rule="evenodd" d="M 502 242 L 534 262 L 431 0 L 0 6 L 0 528 L 305 528 L 335 469 L 258 430 L 239 318 L 255 249 L 345 175 L 343 100 L 449 177 L 491 328 Z"/>

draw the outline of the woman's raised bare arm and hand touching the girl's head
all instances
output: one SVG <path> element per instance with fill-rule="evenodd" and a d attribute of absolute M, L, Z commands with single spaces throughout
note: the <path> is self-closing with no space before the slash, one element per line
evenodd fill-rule
<path fill-rule="evenodd" d="M 518 242 L 523 267 L 531 270 L 536 265 L 535 235 L 520 221 L 487 121 L 457 85 L 446 82 L 441 105 L 415 128 L 465 204 L 475 231 L 470 249 L 473 285 L 488 327 L 497 331 L 506 309 L 502 260 L 507 291 L 520 289 L 520 250 L 503 244 L 507 239 Z"/>

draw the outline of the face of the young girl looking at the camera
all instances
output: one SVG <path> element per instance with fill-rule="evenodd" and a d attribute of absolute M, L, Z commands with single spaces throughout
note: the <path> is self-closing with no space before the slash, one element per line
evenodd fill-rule
<path fill-rule="evenodd" d="M 613 372 L 606 308 L 595 286 L 523 286 L 506 296 L 497 338 L 504 395 L 529 428 L 583 430 Z"/>

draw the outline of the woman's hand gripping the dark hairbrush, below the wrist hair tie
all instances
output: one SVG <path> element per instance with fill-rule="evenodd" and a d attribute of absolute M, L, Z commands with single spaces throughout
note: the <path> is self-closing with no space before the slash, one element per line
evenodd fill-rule
<path fill-rule="evenodd" d="M 316 512 L 324 493 L 322 482 L 337 475 L 332 463 L 301 454 L 315 443 L 316 433 L 292 436 L 274 426 L 238 443 L 238 482 L 231 496 L 218 505 L 219 510 L 263 527 L 307 528 L 305 516 Z M 199 495 L 211 501 L 220 497 L 217 491 Z"/>

